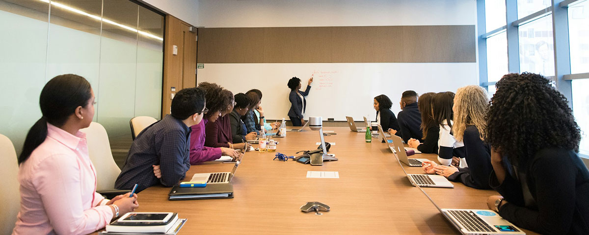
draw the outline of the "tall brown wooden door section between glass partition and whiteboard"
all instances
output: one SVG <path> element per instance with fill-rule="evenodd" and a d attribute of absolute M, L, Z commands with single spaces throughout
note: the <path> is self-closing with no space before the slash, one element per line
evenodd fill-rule
<path fill-rule="evenodd" d="M 178 46 L 177 55 L 172 53 L 174 45 Z M 196 33 L 190 32 L 190 25 L 174 16 L 166 15 L 162 117 L 170 113 L 172 93 L 196 86 L 196 51 Z M 171 91 L 173 87 L 176 91 Z"/>

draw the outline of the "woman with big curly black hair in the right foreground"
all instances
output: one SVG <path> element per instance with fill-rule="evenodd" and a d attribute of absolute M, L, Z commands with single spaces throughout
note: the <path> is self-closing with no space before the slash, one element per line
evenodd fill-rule
<path fill-rule="evenodd" d="M 489 197 L 489 209 L 537 233 L 589 234 L 589 171 L 567 99 L 534 73 L 510 73 L 495 86 L 485 139 L 489 184 L 501 196 Z"/>

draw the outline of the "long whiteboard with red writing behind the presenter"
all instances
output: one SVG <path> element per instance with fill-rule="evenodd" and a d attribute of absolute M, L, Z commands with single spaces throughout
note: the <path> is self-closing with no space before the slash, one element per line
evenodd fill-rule
<path fill-rule="evenodd" d="M 395 115 L 405 90 L 456 92 L 461 86 L 478 85 L 477 63 L 206 63 L 197 69 L 197 83 L 214 82 L 233 94 L 259 89 L 266 120 L 289 120 L 288 80 L 301 79 L 302 90 L 313 76 L 305 119 L 375 119 L 375 96 L 385 94 Z"/>

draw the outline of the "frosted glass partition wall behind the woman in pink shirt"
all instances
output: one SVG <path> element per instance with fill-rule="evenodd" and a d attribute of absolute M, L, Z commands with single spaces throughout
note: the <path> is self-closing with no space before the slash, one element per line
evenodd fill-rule
<path fill-rule="evenodd" d="M 119 161 L 131 144 L 129 120 L 160 119 L 163 15 L 133 1 L 0 0 L 0 32 L 0 133 L 17 153 L 41 117 L 41 89 L 65 73 L 91 83 L 94 121 Z"/>

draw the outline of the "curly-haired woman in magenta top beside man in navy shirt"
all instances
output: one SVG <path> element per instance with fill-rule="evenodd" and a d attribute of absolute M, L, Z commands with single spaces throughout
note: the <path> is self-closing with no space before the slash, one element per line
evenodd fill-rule
<path fill-rule="evenodd" d="M 232 103 L 231 99 L 224 95 L 223 88 L 216 83 L 201 82 L 198 84 L 198 88 L 202 88 L 205 92 L 204 97 L 207 100 L 205 107 L 209 111 L 205 113 L 202 122 L 190 127 L 192 129 L 190 132 L 190 164 L 216 160 L 221 156 L 237 159 L 239 153 L 235 149 L 204 146 L 207 123 L 219 119 L 221 113 Z"/>

